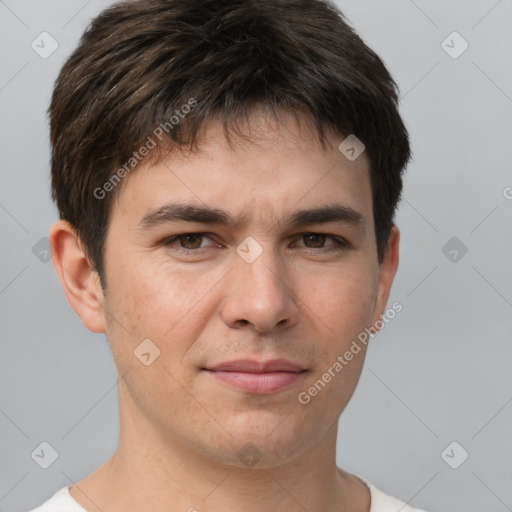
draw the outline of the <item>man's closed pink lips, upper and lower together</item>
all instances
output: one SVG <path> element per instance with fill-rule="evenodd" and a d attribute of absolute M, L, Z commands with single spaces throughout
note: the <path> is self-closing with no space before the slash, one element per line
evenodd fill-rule
<path fill-rule="evenodd" d="M 298 382 L 306 373 L 304 368 L 287 359 L 238 359 L 204 370 L 230 387 L 257 395 L 282 391 Z"/>

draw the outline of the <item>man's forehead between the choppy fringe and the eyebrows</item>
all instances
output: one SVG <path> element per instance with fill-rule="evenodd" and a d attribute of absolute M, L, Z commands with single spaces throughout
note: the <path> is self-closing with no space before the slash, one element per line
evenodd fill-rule
<path fill-rule="evenodd" d="M 372 209 L 366 155 L 350 161 L 338 150 L 343 139 L 328 137 L 324 149 L 307 122 L 286 114 L 278 122 L 255 115 L 243 136 L 229 140 L 220 123 L 209 123 L 197 150 L 139 164 L 122 183 L 112 218 L 149 227 L 159 216 L 186 216 L 193 206 L 196 218 L 242 228 L 264 219 L 297 223 L 326 207 L 324 216 L 364 224 Z"/>

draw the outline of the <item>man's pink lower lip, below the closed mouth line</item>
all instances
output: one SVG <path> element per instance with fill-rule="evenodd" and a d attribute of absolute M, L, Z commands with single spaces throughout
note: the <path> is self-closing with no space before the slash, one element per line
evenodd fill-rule
<path fill-rule="evenodd" d="M 234 371 L 208 372 L 215 378 L 247 393 L 269 395 L 277 393 L 300 380 L 305 372 L 248 373 Z"/>

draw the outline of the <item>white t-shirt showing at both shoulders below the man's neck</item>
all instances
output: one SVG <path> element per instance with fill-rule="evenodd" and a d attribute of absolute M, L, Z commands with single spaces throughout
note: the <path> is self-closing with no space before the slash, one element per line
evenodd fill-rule
<path fill-rule="evenodd" d="M 359 475 L 354 475 L 366 484 L 370 489 L 371 506 L 369 512 L 425 512 L 418 508 L 409 507 L 403 501 L 384 494 L 380 489 L 372 485 L 368 480 Z M 69 494 L 69 487 L 63 487 L 50 499 L 29 512 L 87 512 Z"/>

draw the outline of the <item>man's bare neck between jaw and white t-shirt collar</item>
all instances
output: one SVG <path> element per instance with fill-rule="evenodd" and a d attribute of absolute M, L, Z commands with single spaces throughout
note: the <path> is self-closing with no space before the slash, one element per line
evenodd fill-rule
<path fill-rule="evenodd" d="M 249 468 L 205 457 L 120 409 L 116 452 L 70 490 L 88 512 L 369 511 L 366 486 L 336 466 L 337 422 L 299 457 Z"/>

